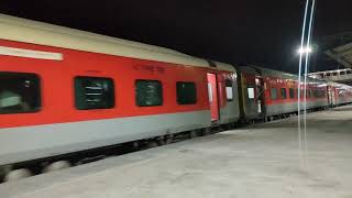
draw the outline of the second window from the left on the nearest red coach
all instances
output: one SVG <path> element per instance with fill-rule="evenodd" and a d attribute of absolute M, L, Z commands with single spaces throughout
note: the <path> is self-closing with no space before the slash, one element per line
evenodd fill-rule
<path fill-rule="evenodd" d="M 75 78 L 76 108 L 79 110 L 111 109 L 114 107 L 114 88 L 111 78 Z"/>

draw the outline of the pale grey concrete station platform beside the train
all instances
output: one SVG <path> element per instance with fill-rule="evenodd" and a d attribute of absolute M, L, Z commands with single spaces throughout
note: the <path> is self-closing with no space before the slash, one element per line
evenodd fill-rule
<path fill-rule="evenodd" d="M 352 106 L 254 124 L 0 185 L 16 198 L 352 197 Z M 301 156 L 305 153 L 302 153 Z"/>

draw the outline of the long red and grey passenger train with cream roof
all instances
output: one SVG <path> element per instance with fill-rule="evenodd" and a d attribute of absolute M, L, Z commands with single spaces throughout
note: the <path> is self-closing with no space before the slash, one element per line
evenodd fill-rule
<path fill-rule="evenodd" d="M 346 85 L 0 14 L 0 173 L 352 102 Z M 300 88 L 301 92 L 298 91 Z M 304 108 L 304 106 L 301 107 Z"/>

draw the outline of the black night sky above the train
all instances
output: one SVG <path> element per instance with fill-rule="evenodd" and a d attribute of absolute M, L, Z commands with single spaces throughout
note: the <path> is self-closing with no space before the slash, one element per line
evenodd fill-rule
<path fill-rule="evenodd" d="M 0 0 L 0 12 L 189 55 L 296 72 L 305 0 Z M 351 0 L 317 0 L 315 40 L 352 32 Z M 322 48 L 322 47 L 321 47 Z M 317 70 L 331 67 L 321 53 Z"/>

